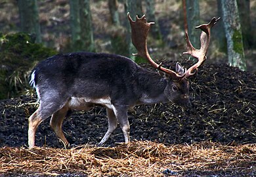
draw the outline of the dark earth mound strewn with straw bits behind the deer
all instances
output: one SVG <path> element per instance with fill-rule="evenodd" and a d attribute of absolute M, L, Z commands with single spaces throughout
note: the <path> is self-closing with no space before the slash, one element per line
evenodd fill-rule
<path fill-rule="evenodd" d="M 165 62 L 174 66 L 174 62 Z M 184 62 L 184 66 L 191 65 Z M 147 67 L 147 66 L 146 66 Z M 131 140 L 151 140 L 164 144 L 182 144 L 211 140 L 228 144 L 256 143 L 256 77 L 224 64 L 203 64 L 190 78 L 192 108 L 175 104 L 137 106 L 129 112 Z M 0 101 L 0 146 L 27 146 L 28 117 L 35 111 L 36 98 L 21 96 Z M 63 130 L 70 144 L 96 144 L 108 128 L 106 111 L 97 107 L 74 112 L 64 120 Z M 112 134 L 106 146 L 123 142 L 121 128 Z M 39 125 L 37 146 L 63 147 L 49 126 Z"/>

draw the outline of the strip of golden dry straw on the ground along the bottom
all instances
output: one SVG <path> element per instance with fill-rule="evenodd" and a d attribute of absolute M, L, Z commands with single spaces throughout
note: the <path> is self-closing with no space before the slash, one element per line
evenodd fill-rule
<path fill-rule="evenodd" d="M 256 174 L 256 145 L 213 142 L 165 146 L 136 141 L 117 147 L 72 149 L 1 147 L 0 174 L 182 176 L 229 172 Z M 168 169 L 168 170 L 167 170 Z"/>

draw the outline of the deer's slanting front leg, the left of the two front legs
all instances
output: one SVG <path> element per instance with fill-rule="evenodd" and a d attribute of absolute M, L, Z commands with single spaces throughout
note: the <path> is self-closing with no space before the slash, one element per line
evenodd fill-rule
<path fill-rule="evenodd" d="M 114 130 L 117 127 L 117 119 L 116 119 L 116 115 L 115 115 L 114 111 L 112 109 L 108 109 L 108 108 L 106 109 L 106 111 L 107 111 L 107 115 L 108 115 L 108 131 L 106 132 L 106 134 L 104 135 L 104 137 L 102 138 L 100 143 L 98 144 L 99 146 L 104 144 L 104 142 L 106 142 L 106 140 L 108 140 L 108 138 L 110 138 L 110 135 L 112 134 L 112 132 L 114 132 Z"/>

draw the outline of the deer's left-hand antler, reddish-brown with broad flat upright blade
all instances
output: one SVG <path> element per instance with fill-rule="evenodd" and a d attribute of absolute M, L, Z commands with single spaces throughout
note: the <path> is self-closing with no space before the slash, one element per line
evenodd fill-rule
<path fill-rule="evenodd" d="M 171 69 L 163 68 L 159 64 L 156 64 L 156 62 L 152 60 L 152 58 L 150 57 L 150 54 L 148 53 L 146 38 L 148 36 L 148 31 L 150 30 L 150 26 L 155 23 L 146 22 L 145 15 L 143 15 L 141 18 L 137 16 L 136 21 L 133 21 L 131 19 L 129 12 L 127 13 L 127 17 L 131 25 L 131 39 L 132 39 L 133 45 L 138 51 L 137 54 L 133 54 L 133 55 L 139 55 L 142 58 L 145 58 L 152 67 L 167 73 L 168 75 L 170 75 L 170 77 L 173 80 L 180 81 L 182 77 L 184 77 L 184 75 L 178 75 L 177 73 L 175 73 L 175 71 L 172 71 Z"/>

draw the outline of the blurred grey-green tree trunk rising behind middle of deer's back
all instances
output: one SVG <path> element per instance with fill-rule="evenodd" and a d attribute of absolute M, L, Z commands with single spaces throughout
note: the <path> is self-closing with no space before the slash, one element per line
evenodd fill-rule
<path fill-rule="evenodd" d="M 95 51 L 89 0 L 70 0 L 72 50 Z"/>

